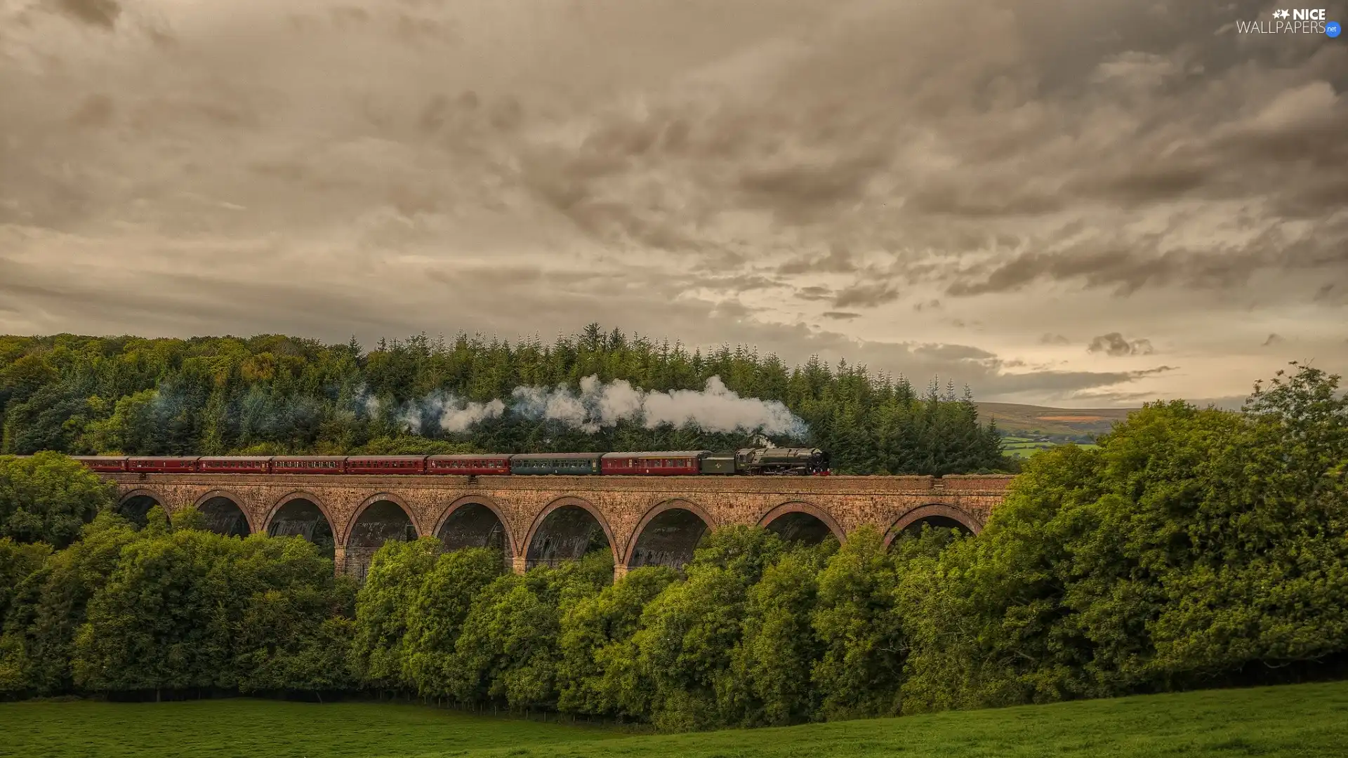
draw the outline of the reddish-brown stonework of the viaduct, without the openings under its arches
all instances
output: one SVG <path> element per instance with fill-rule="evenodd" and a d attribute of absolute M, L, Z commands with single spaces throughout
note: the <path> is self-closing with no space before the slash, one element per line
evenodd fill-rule
<path fill-rule="evenodd" d="M 270 531 L 290 502 L 309 500 L 322 513 L 336 544 L 338 571 L 348 553 L 371 553 L 367 537 L 355 537 L 363 514 L 375 503 L 383 511 L 400 508 L 417 537 L 441 535 L 460 508 L 479 506 L 499 519 L 500 544 L 515 571 L 542 562 L 539 553 L 550 517 L 568 510 L 570 521 L 586 511 L 603 530 L 621 576 L 638 565 L 638 546 L 666 511 L 686 511 L 696 525 L 690 545 L 704 529 L 728 525 L 770 526 L 780 517 L 809 514 L 840 541 L 863 525 L 874 525 L 890 541 L 902 529 L 930 521 L 958 523 L 977 534 L 1003 499 L 1012 476 L 377 476 L 377 475 L 210 475 L 104 473 L 117 484 L 123 503 L 148 496 L 166 510 L 202 507 L 224 498 L 247 521 L 248 533 Z M 144 500 L 148 502 L 148 500 Z M 375 513 L 375 510 L 371 510 Z M 696 515 L 696 521 L 687 514 Z M 462 515 L 462 514 L 461 514 Z M 805 517 L 793 517 L 805 518 Z M 818 519 L 814 522 L 814 519 Z M 479 519 L 480 522 L 481 519 Z M 666 519 L 673 522 L 673 519 Z M 698 523 L 701 522 L 701 523 Z M 705 526 L 704 526 L 705 525 Z M 670 529 L 666 527 L 666 531 Z M 377 531 L 376 531 L 377 534 Z M 597 534 L 597 530 L 594 530 Z M 406 534 L 411 537 L 410 533 Z M 383 541 L 383 537 L 376 540 Z M 357 542 L 360 542 L 357 545 Z M 537 553 L 537 554 L 535 554 Z M 663 554 L 663 553 L 662 553 Z M 663 560 L 663 558 L 662 558 Z M 368 560 L 367 560 L 368 562 Z M 651 560 L 646 560 L 651 562 Z M 656 561 L 659 562 L 659 561 Z M 360 572 L 363 573 L 363 566 Z"/>

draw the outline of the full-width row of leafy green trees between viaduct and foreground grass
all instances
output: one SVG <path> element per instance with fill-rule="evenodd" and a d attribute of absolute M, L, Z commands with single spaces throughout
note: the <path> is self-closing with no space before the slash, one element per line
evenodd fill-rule
<path fill-rule="evenodd" d="M 62 487 L 75 504 L 26 504 Z M 1035 455 L 977 537 L 728 527 L 617 581 L 607 550 L 519 576 L 423 538 L 357 588 L 301 538 L 190 510 L 136 530 L 108 502 L 31 541 L 98 487 L 51 453 L 0 463 L 3 696 L 384 693 L 694 730 L 1348 674 L 1348 398 L 1308 367 L 1242 413 L 1153 403 Z"/>

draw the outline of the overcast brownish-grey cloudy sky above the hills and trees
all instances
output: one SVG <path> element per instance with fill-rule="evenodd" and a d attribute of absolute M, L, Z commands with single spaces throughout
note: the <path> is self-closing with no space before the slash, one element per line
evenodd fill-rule
<path fill-rule="evenodd" d="M 1348 36 L 1235 28 L 1278 7 L 0 0 L 0 333 L 1348 372 Z"/>

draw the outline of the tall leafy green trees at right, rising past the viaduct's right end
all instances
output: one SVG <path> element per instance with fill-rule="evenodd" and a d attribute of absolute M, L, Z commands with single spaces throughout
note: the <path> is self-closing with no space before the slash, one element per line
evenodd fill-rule
<path fill-rule="evenodd" d="M 1348 639 L 1348 401 L 1299 367 L 1246 414 L 1155 403 L 1039 453 L 977 540 L 900 577 L 914 709 L 1268 681 Z"/>

